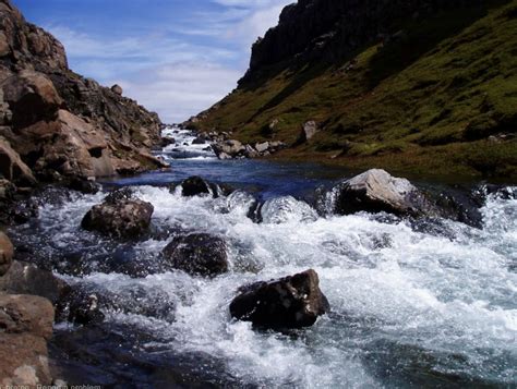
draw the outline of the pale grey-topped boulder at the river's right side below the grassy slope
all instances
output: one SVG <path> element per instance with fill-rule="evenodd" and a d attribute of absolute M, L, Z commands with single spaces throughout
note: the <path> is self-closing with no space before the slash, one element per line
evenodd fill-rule
<path fill-rule="evenodd" d="M 332 207 L 339 215 L 364 210 L 418 216 L 431 210 L 424 194 L 413 184 L 381 169 L 369 170 L 335 186 Z"/>

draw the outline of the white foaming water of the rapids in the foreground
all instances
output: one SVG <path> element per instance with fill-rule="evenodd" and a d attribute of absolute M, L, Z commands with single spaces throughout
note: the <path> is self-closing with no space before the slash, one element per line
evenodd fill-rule
<path fill-rule="evenodd" d="M 185 198 L 166 187 L 135 186 L 155 207 L 155 228 L 171 231 L 132 247 L 156 259 L 177 231 L 208 232 L 228 243 L 230 271 L 215 279 L 183 272 L 132 277 L 118 271 L 68 275 L 109 295 L 109 323 L 152 332 L 142 350 L 204 353 L 224 361 L 242 385 L 300 388 L 517 385 L 517 199 L 488 197 L 484 228 L 441 220 L 447 234 L 368 214 L 318 217 L 306 203 L 278 195 L 247 217 L 253 195 Z M 74 245 L 107 255 L 120 247 L 81 231 L 103 195 L 41 208 L 31 243 L 48 256 Z M 109 243 L 109 244 L 108 244 Z M 93 258 L 93 259 L 92 259 Z M 314 268 L 332 313 L 289 333 L 253 330 L 230 318 L 242 284 Z"/>

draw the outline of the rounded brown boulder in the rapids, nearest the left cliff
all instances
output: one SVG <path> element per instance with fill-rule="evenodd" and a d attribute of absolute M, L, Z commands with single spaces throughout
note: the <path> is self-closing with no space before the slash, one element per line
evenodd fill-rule
<path fill-rule="evenodd" d="M 94 206 L 84 216 L 81 226 L 88 231 L 122 239 L 135 239 L 144 234 L 151 224 L 154 207 L 140 199 L 105 202 Z"/>

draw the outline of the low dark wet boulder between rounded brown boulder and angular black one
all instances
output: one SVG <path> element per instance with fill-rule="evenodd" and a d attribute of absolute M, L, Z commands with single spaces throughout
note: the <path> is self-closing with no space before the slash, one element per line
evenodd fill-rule
<path fill-rule="evenodd" d="M 206 233 L 178 236 L 161 255 L 166 268 L 191 276 L 215 277 L 228 271 L 226 242 Z"/>

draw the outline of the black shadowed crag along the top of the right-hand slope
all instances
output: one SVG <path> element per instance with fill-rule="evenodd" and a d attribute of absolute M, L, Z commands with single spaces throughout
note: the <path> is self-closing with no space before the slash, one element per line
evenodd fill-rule
<path fill-rule="evenodd" d="M 241 82 L 263 68 L 286 60 L 336 60 L 362 45 L 396 33 L 400 20 L 443 9 L 473 5 L 467 0 L 299 0 L 280 14 L 252 48 L 250 70 Z"/>

